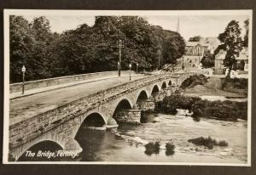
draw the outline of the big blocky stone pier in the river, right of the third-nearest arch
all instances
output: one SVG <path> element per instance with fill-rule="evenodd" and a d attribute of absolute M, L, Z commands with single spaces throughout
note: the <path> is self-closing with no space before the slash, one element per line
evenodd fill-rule
<path fill-rule="evenodd" d="M 131 109 L 131 110 L 120 110 L 116 116 L 116 120 L 119 122 L 137 124 L 141 121 L 142 110 Z"/>

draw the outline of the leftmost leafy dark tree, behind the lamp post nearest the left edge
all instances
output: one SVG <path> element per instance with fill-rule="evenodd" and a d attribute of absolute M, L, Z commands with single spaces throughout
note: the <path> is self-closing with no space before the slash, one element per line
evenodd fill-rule
<path fill-rule="evenodd" d="M 9 17 L 10 82 L 22 81 L 22 65 L 32 67 L 32 52 L 35 38 L 31 25 L 22 16 Z M 27 69 L 26 77 L 32 77 L 32 70 Z"/>

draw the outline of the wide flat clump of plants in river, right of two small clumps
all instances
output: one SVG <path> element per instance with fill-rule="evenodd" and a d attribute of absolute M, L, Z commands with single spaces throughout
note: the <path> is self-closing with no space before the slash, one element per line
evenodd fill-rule
<path fill-rule="evenodd" d="M 195 144 L 195 145 L 203 145 L 206 146 L 209 150 L 213 149 L 213 146 L 228 146 L 229 144 L 224 141 L 217 141 L 214 138 L 208 137 L 208 138 L 192 138 L 188 140 L 189 143 Z"/>

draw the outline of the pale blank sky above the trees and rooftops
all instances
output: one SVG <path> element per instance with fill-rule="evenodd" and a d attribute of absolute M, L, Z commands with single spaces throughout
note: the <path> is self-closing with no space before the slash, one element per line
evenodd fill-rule
<path fill-rule="evenodd" d="M 26 15 L 27 20 L 32 21 L 36 16 Z M 46 15 L 50 23 L 51 31 L 61 33 L 62 31 L 75 29 L 79 25 L 86 23 L 94 25 L 95 16 L 60 16 Z M 164 29 L 177 31 L 177 19 L 179 18 L 179 32 L 187 40 L 189 37 L 218 37 L 218 34 L 224 31 L 224 28 L 230 20 L 238 20 L 244 33 L 243 21 L 249 18 L 248 15 L 156 15 L 143 16 L 152 25 L 160 25 Z"/>

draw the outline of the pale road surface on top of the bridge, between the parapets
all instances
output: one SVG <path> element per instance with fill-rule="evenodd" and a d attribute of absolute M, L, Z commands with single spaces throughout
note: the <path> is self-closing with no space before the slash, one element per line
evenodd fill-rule
<path fill-rule="evenodd" d="M 146 75 L 131 76 L 136 80 Z M 86 82 L 72 87 L 57 88 L 30 96 L 11 99 L 9 103 L 9 125 L 24 121 L 32 116 L 44 113 L 68 104 L 76 99 L 84 98 L 90 94 L 106 90 L 121 83 L 129 82 L 129 76 L 112 77 L 98 80 L 96 82 Z"/>

